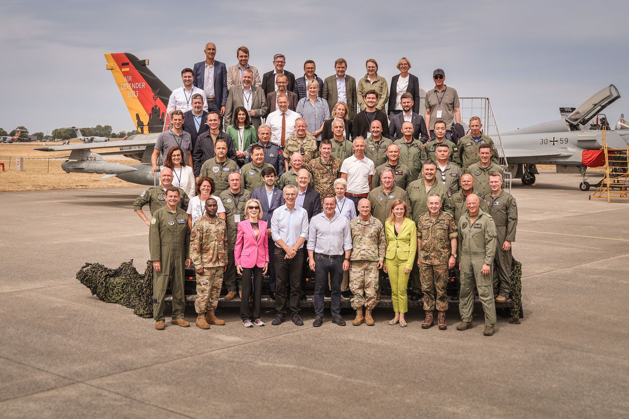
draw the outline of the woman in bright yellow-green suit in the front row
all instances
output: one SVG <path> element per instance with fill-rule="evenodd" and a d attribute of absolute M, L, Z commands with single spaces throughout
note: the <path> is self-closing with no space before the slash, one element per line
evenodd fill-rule
<path fill-rule="evenodd" d="M 408 311 L 406 285 L 417 251 L 417 228 L 415 222 L 407 215 L 406 202 L 396 199 L 389 211 L 389 219 L 384 223 L 384 233 L 387 237 L 384 271 L 389 274 L 391 301 L 395 312 L 395 317 L 389 324 L 399 323 L 401 327 L 406 327 L 404 321 L 404 313 Z"/>

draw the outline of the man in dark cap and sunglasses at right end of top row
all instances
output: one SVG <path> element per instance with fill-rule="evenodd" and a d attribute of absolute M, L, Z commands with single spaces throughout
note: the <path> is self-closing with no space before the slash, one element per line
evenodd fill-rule
<path fill-rule="evenodd" d="M 435 89 L 426 92 L 424 121 L 430 129 L 430 139 L 435 139 L 435 122 L 438 119 L 445 121 L 445 138 L 452 141 L 452 126 L 455 121 L 461 123 L 459 94 L 453 87 L 445 85 L 445 73 L 441 68 L 433 71 L 433 80 Z"/>

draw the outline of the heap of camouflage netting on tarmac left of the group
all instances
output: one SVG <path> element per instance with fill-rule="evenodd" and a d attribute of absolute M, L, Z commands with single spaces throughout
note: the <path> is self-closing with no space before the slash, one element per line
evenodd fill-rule
<path fill-rule="evenodd" d="M 99 263 L 86 264 L 77 272 L 77 280 L 87 286 L 92 295 L 106 303 L 118 303 L 133 308 L 133 314 L 153 317 L 153 264 L 147 261 L 144 275 L 125 262 L 120 268 L 109 269 Z"/>

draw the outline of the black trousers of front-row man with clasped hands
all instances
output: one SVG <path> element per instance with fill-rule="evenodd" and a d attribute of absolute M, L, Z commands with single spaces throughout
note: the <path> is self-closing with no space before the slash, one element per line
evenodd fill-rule
<path fill-rule="evenodd" d="M 285 259 L 284 249 L 274 246 L 276 269 L 276 312 L 286 315 L 286 285 L 291 285 L 289 308 L 291 317 L 299 314 L 299 297 L 301 297 L 301 272 L 304 265 L 304 248 L 297 251 L 292 259 Z"/>

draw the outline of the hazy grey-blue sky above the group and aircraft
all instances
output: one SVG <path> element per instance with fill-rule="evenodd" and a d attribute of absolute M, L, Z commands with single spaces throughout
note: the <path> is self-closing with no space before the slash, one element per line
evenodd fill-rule
<path fill-rule="evenodd" d="M 364 77 L 376 58 L 390 80 L 400 57 L 422 89 L 435 68 L 460 96 L 487 96 L 500 131 L 559 117 L 608 84 L 621 99 L 606 109 L 611 124 L 629 116 L 629 6 L 620 1 L 13 1 L 0 3 L 0 127 L 31 133 L 109 124 L 130 131 L 133 120 L 105 69 L 104 53 L 130 52 L 171 89 L 181 69 L 204 60 L 250 63 L 272 70 L 274 53 L 286 69 L 333 74 L 334 60 Z"/>

